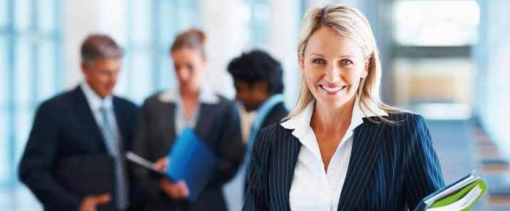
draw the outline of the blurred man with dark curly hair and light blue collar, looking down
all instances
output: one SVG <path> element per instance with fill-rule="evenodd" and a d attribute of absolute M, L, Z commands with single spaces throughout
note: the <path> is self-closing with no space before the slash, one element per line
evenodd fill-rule
<path fill-rule="evenodd" d="M 281 64 L 268 53 L 254 50 L 234 58 L 229 63 L 228 71 L 234 78 L 236 100 L 242 103 L 246 111 L 256 111 L 241 171 L 246 190 L 245 165 L 249 165 L 256 132 L 260 128 L 278 123 L 288 114 L 283 105 L 283 70 Z"/>

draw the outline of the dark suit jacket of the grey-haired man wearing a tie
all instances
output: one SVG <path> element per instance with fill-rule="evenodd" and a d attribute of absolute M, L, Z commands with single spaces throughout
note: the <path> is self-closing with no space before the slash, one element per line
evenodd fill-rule
<path fill-rule="evenodd" d="M 130 101 L 114 97 L 113 108 L 127 150 L 136 128 L 137 107 Z M 108 155 L 100 128 L 78 86 L 43 102 L 38 108 L 19 165 L 19 177 L 43 203 L 45 210 L 78 210 L 85 195 L 68 187 L 69 181 L 80 182 L 97 176 L 94 179 L 97 184 L 82 184 L 78 189 L 104 190 L 105 187 L 98 187 L 98 184 L 113 183 L 113 163 L 109 162 L 113 162 L 113 158 Z M 76 170 L 73 164 L 78 170 L 103 169 L 105 172 L 84 172 L 80 177 L 73 174 Z M 107 172 L 108 167 L 105 168 L 107 165 L 111 167 L 110 172 Z M 113 190 L 113 184 L 110 187 L 106 189 Z M 115 197 L 112 195 L 112 198 Z"/>

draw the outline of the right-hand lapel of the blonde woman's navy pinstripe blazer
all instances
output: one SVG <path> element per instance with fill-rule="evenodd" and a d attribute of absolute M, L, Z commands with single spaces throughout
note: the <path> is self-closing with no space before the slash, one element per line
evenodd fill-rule
<path fill-rule="evenodd" d="M 366 118 L 363 118 L 363 124 L 355 128 L 353 150 L 338 201 L 338 210 L 355 209 L 378 158 L 380 136 L 384 128 L 385 123 L 371 123 Z"/>

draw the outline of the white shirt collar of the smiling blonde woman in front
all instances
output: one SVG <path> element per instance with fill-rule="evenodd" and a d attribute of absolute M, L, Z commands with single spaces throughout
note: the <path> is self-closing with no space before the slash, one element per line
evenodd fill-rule
<path fill-rule="evenodd" d="M 363 118 L 365 117 L 373 117 L 373 116 L 387 116 L 388 114 L 378 108 L 377 104 L 373 101 L 365 101 L 367 105 L 364 105 L 361 103 L 361 107 L 358 104 L 358 97 L 355 99 L 355 103 L 353 106 L 353 116 L 350 120 L 350 125 L 348 130 L 354 130 L 354 128 L 358 127 L 358 125 L 361 125 L 363 123 Z M 296 138 L 301 138 L 303 135 L 306 135 L 309 130 L 311 130 L 310 127 L 310 120 L 313 114 L 313 108 L 315 108 L 315 100 L 312 100 L 308 105 L 306 105 L 306 108 L 301 111 L 301 113 L 298 113 L 298 115 L 294 116 L 293 118 L 290 118 L 286 120 L 285 122 L 281 123 L 283 128 L 291 129 L 293 130 L 292 135 L 296 136 Z M 373 110 L 374 112 L 370 111 Z M 365 111 L 365 114 L 363 113 Z"/>

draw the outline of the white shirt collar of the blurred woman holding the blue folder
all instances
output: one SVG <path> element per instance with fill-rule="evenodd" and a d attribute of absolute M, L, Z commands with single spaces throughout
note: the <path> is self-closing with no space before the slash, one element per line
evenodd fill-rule
<path fill-rule="evenodd" d="M 177 103 L 180 101 L 179 87 L 175 86 L 170 88 L 169 90 L 161 93 L 158 98 L 164 103 Z M 216 93 L 214 93 L 214 91 L 212 91 L 212 88 L 205 84 L 200 89 L 198 101 L 199 103 L 205 104 L 217 104 L 219 103 L 219 97 L 216 95 Z"/>

